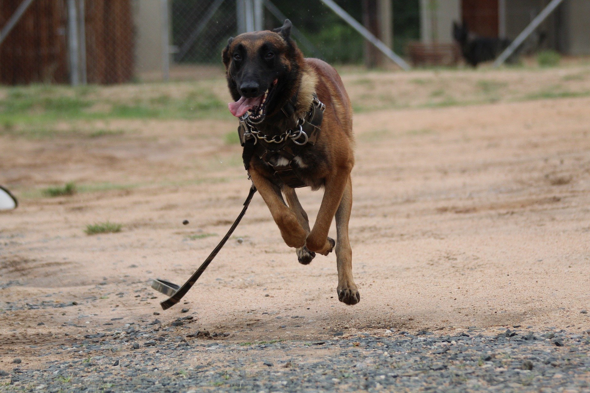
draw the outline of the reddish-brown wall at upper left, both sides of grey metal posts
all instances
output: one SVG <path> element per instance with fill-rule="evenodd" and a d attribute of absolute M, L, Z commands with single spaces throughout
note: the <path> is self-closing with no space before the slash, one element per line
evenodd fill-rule
<path fill-rule="evenodd" d="M 0 28 L 22 0 L 0 0 Z M 113 84 L 133 78 L 131 0 L 84 0 L 89 83 Z M 0 45 L 0 83 L 67 83 L 65 0 L 35 0 Z"/>

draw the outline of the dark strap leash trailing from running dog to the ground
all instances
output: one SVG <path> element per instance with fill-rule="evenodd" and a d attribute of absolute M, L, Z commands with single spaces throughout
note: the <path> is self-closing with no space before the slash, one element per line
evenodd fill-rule
<path fill-rule="evenodd" d="M 191 278 L 188 279 L 188 281 L 186 281 L 182 286 L 179 286 L 175 283 L 166 280 L 152 279 L 152 288 L 157 290 L 158 292 L 163 293 L 166 296 L 169 296 L 168 299 L 163 300 L 163 302 L 160 302 L 160 305 L 162 306 L 163 310 L 167 310 L 176 303 L 178 303 L 183 298 L 183 296 L 186 295 L 186 292 L 188 292 L 192 288 L 192 286 L 195 285 L 196 280 L 198 280 L 199 277 L 201 277 L 202 273 L 205 271 L 205 269 L 207 269 L 207 266 L 209 266 L 209 263 L 211 263 L 215 256 L 217 256 L 217 253 L 219 252 L 219 250 L 221 250 L 221 247 L 223 247 L 225 245 L 225 242 L 227 242 L 227 240 L 230 239 L 230 236 L 234 232 L 234 229 L 238 226 L 238 224 L 242 220 L 242 217 L 244 217 L 244 214 L 246 214 L 246 210 L 248 210 L 248 205 L 250 204 L 250 201 L 252 200 L 252 197 L 254 196 L 255 192 L 256 187 L 254 186 L 254 184 L 252 184 L 252 186 L 250 187 L 250 193 L 248 193 L 248 197 L 246 197 L 246 200 L 244 202 L 244 208 L 238 215 L 237 219 L 235 219 L 234 223 L 230 227 L 230 230 L 228 230 L 223 239 L 221 239 L 221 242 L 219 242 L 217 247 L 215 247 L 211 254 L 209 254 L 207 259 L 205 259 L 205 262 L 203 262 L 201 266 L 199 266 L 199 268 L 196 269 L 196 272 L 193 273 L 193 275 L 191 276 Z"/>

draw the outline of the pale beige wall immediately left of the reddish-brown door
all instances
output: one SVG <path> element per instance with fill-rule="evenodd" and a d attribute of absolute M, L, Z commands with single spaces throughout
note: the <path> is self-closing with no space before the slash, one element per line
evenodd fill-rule
<path fill-rule="evenodd" d="M 436 5 L 434 12 L 431 7 L 433 1 Z M 434 31 L 433 19 L 436 24 Z M 461 0 L 420 0 L 420 37 L 422 42 L 430 44 L 434 39 L 445 44 L 453 42 L 454 21 L 461 21 Z"/>

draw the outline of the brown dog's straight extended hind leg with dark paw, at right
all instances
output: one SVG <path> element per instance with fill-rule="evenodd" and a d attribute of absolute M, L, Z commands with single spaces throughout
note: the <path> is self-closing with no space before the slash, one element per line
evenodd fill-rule
<path fill-rule="evenodd" d="M 336 265 L 338 268 L 338 300 L 353 305 L 360 302 L 360 294 L 352 279 L 352 248 L 348 240 L 348 221 L 352 209 L 352 181 L 350 176 L 336 210 Z"/>

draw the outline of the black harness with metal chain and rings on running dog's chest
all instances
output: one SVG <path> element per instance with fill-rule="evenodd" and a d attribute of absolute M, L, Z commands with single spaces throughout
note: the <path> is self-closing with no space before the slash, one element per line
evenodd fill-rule
<path fill-rule="evenodd" d="M 291 99 L 283 108 L 283 114 L 291 117 L 294 113 L 294 106 Z M 293 160 L 297 157 L 304 146 L 316 143 L 320 134 L 323 120 L 324 105 L 316 94 L 313 94 L 313 101 L 310 110 L 304 117 L 297 120 L 294 129 L 289 129 L 283 134 L 272 137 L 266 136 L 257 130 L 255 124 L 248 120 L 248 113 L 240 117 L 238 135 L 244 151 L 242 159 L 246 170 L 250 169 L 250 160 L 256 154 L 274 170 L 274 176 L 291 188 L 304 187 L 306 184 L 297 176 L 293 168 Z M 279 164 L 270 161 L 271 157 L 280 156 L 286 159 L 286 163 Z M 282 160 L 284 162 L 284 160 Z"/>

